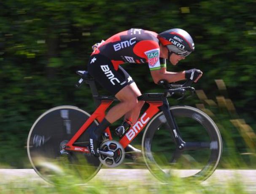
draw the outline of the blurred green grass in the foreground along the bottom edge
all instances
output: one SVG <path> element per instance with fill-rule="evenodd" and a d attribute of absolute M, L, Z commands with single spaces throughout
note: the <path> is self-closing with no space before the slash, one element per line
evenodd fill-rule
<path fill-rule="evenodd" d="M 143 173 L 142 173 L 143 174 Z M 223 174 L 223 173 L 222 173 Z M 22 178 L 3 179 L 0 183 L 0 194 L 251 194 L 253 183 L 244 180 L 245 175 L 231 172 L 229 177 L 211 178 L 202 184 L 181 178 L 174 178 L 172 183 L 161 183 L 153 176 L 138 177 L 129 175 L 129 178 L 112 177 L 106 175 L 96 176 L 89 183 L 81 183 L 81 178 L 69 176 L 57 176 L 54 184 L 47 184 L 37 179 L 36 176 L 22 175 Z M 124 172 L 127 176 L 128 172 Z M 224 181 L 219 181 L 219 179 Z M 70 181 L 72 180 L 72 181 Z M 118 181 L 115 181 L 118 180 Z"/>

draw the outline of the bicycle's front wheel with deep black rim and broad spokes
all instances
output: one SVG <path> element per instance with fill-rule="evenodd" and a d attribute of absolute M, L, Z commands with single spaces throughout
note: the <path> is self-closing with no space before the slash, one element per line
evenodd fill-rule
<path fill-rule="evenodd" d="M 203 143 L 205 147 L 184 151 L 185 153 L 177 151 L 170 130 L 165 130 L 169 125 L 164 113 L 160 112 L 151 119 L 143 134 L 142 152 L 148 169 L 157 179 L 165 183 L 172 182 L 176 176 L 192 181 L 206 180 L 216 170 L 221 159 L 222 140 L 218 127 L 206 113 L 197 108 L 173 106 L 170 107 L 170 111 L 182 139 L 185 142 L 200 139 L 197 143 Z M 196 127 L 186 125 L 187 122 Z M 185 132 L 188 128 L 190 132 Z M 191 129 L 200 129 L 200 131 L 191 132 Z M 208 137 L 205 137 L 206 134 Z M 194 137 L 189 137 L 191 135 Z M 203 159 L 205 156 L 207 158 Z M 178 157 L 178 160 L 175 161 L 175 157 Z"/>

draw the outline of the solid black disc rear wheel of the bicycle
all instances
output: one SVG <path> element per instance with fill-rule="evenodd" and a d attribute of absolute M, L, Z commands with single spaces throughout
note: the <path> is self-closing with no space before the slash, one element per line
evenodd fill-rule
<path fill-rule="evenodd" d="M 35 172 L 49 183 L 58 178 L 73 177 L 82 183 L 89 181 L 102 164 L 91 154 L 70 151 L 61 154 L 61 143 L 67 143 L 91 115 L 75 106 L 57 106 L 47 110 L 32 125 L 27 139 L 27 154 Z M 75 142 L 86 147 L 89 130 L 98 125 L 94 121 Z M 74 143 L 74 144 L 75 144 Z"/>

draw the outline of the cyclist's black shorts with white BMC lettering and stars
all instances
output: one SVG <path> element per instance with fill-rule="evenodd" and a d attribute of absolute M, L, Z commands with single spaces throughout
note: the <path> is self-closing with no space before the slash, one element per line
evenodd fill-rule
<path fill-rule="evenodd" d="M 132 77 L 119 65 L 114 69 L 112 62 L 101 54 L 90 57 L 87 70 L 89 74 L 112 95 L 116 95 L 125 86 L 132 84 Z"/>

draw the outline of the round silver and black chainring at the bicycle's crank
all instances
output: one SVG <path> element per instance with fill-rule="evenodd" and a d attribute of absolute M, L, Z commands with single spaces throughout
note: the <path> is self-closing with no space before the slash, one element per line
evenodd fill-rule
<path fill-rule="evenodd" d="M 119 166 L 124 160 L 123 146 L 114 140 L 105 141 L 100 145 L 100 162 L 107 167 Z"/>

